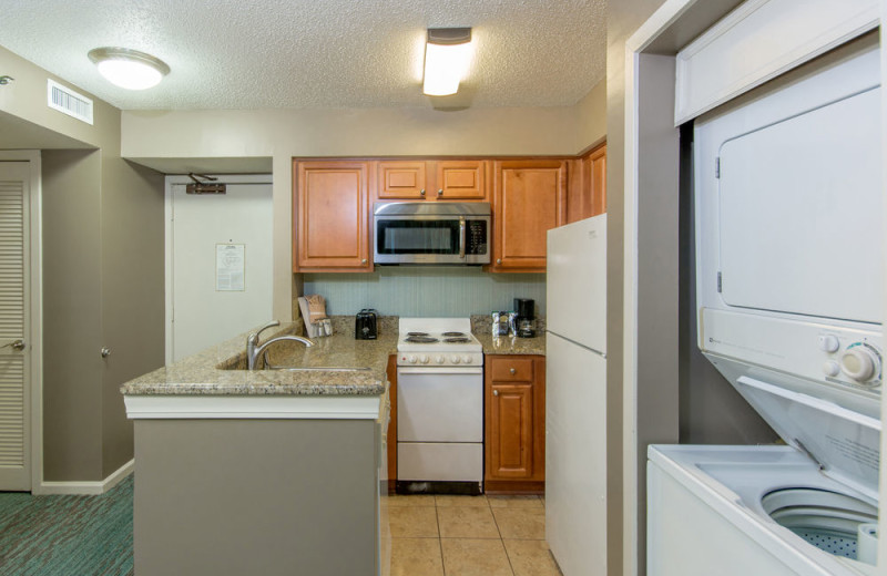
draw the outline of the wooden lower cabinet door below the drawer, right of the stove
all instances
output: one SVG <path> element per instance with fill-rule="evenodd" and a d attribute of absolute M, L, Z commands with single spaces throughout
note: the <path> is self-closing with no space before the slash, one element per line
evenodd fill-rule
<path fill-rule="evenodd" d="M 533 474 L 533 385 L 493 382 L 487 421 L 487 475 L 529 480 Z"/>

